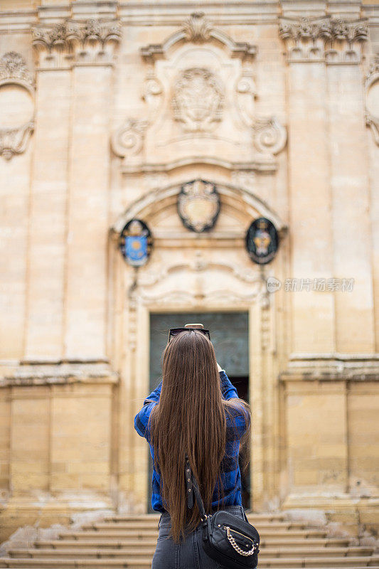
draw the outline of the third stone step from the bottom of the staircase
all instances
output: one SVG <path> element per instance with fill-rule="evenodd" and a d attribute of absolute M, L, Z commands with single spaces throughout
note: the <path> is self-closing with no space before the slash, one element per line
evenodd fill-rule
<path fill-rule="evenodd" d="M 36 548 L 52 548 L 52 549 L 64 549 L 70 547 L 80 547 L 80 548 L 125 548 L 125 547 L 141 547 L 142 543 L 146 547 L 156 546 L 156 539 L 123 539 L 123 540 L 69 540 L 69 539 L 56 539 L 50 541 L 35 541 L 33 546 Z M 293 546 L 293 547 L 348 547 L 351 543 L 351 538 L 267 538 L 262 539 L 260 542 L 260 548 L 268 548 L 272 546 Z"/>

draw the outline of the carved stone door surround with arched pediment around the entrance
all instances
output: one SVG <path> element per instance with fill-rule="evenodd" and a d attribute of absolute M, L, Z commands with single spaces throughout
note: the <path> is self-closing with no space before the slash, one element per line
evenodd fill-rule
<path fill-rule="evenodd" d="M 179 184 L 180 185 L 180 184 Z M 235 201 L 235 208 L 243 211 L 247 219 L 252 215 L 265 215 L 272 219 L 277 225 L 279 233 L 284 237 L 287 233 L 287 226 L 284 225 L 279 216 L 274 213 L 266 203 L 252 195 L 249 191 L 236 188 L 228 184 L 218 184 L 221 198 L 228 201 Z M 235 230 L 224 230 L 212 235 L 196 235 L 188 233 L 183 229 L 183 238 L 193 240 L 193 255 L 187 259 L 174 259 L 171 262 L 162 262 L 160 270 L 154 266 L 143 267 L 140 272 L 124 265 L 121 255 L 117 257 L 117 235 L 125 220 L 133 216 L 139 216 L 149 222 L 150 216 L 154 211 L 159 211 L 161 207 L 170 208 L 176 202 L 178 184 L 172 184 L 163 189 L 149 191 L 141 198 L 134 201 L 122 216 L 114 223 L 110 230 L 111 247 L 115 262 L 117 264 L 117 274 L 120 277 L 117 289 L 117 298 L 123 298 L 123 321 L 124 338 L 126 345 L 124 350 L 127 352 L 127 376 L 124 381 L 127 385 L 132 385 L 133 396 L 130 405 L 130 416 L 135 416 L 140 408 L 140 402 L 149 393 L 149 353 L 146 346 L 149 346 L 150 330 L 149 315 L 151 312 L 230 312 L 243 310 L 249 314 L 249 400 L 252 407 L 252 440 L 251 440 L 251 460 L 250 460 L 250 489 L 252 493 L 252 508 L 259 511 L 267 507 L 269 494 L 277 494 L 275 482 L 279 472 L 279 445 L 277 435 L 277 424 L 274 410 L 278 405 L 277 391 L 277 358 L 276 358 L 276 319 L 274 317 L 274 305 L 276 299 L 267 292 L 265 284 L 266 277 L 272 269 L 269 265 L 258 267 L 247 261 L 245 265 L 237 265 L 230 260 L 220 259 L 214 261 L 207 260 L 203 251 L 212 249 L 212 240 L 229 240 L 242 247 L 243 240 L 241 235 Z M 241 208 L 243 208 L 241 210 Z M 153 228 L 154 233 L 154 228 Z M 177 233 L 177 230 L 176 230 Z M 238 233 L 238 234 L 237 234 Z M 157 236 L 159 245 L 156 249 L 164 256 L 166 243 L 170 243 L 169 230 Z M 155 235 L 155 233 L 154 233 Z M 207 243 L 199 245 L 203 237 Z M 182 238 L 182 237 L 181 237 Z M 200 240 L 198 240 L 200 238 Z M 112 243 L 113 242 L 113 243 Z M 238 244 L 238 245 L 237 245 Z M 197 246 L 198 245 L 198 246 Z M 170 246 L 170 245 L 169 245 Z M 171 253 L 168 257 L 171 257 Z M 117 258 L 116 258 L 117 257 Z M 251 267 L 251 268 L 250 268 Z M 217 294 L 206 294 L 200 289 L 192 289 L 188 284 L 186 288 L 179 289 L 178 286 L 171 287 L 170 278 L 176 273 L 180 275 L 178 282 L 189 283 L 191 278 L 201 278 L 207 270 L 218 270 L 225 278 L 233 280 L 232 287 L 224 287 L 223 279 L 216 287 Z M 279 272 L 282 264 L 279 264 Z M 164 294 L 161 293 L 161 283 L 169 283 L 168 289 Z M 121 289 L 120 289 L 121 287 Z M 249 292 L 250 294 L 244 294 Z M 242 294 L 241 294 L 242 293 Z M 120 308 L 119 308 L 120 309 Z M 138 341 L 137 341 L 138 339 Z M 267 441 L 270 450 L 274 452 L 272 463 L 275 465 L 270 472 L 266 472 L 267 464 Z M 275 447 L 275 450 L 274 450 Z M 271 450 L 272 449 L 272 450 Z M 149 484 L 149 449 L 146 448 L 146 441 L 137 437 L 133 440 L 132 449 L 128 450 L 128 457 L 138 457 L 134 464 L 138 464 L 132 477 L 133 482 L 128 491 L 134 492 L 135 511 L 146 511 L 147 487 Z M 128 458 L 128 460 L 132 460 Z M 276 461 L 276 462 L 275 462 Z M 138 488 L 137 491 L 134 489 Z"/>

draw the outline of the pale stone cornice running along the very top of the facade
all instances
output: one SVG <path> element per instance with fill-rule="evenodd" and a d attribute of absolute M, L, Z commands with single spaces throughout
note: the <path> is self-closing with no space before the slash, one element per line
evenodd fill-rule
<path fill-rule="evenodd" d="M 65 1 L 58 6 L 38 6 L 38 9 L 31 10 L 4 10 L 0 13 L 0 33 L 20 33 L 28 32 L 30 26 L 37 23 L 45 23 L 53 26 L 53 23 L 62 21 L 65 18 L 90 18 L 93 14 L 99 17 L 118 17 L 127 26 L 180 26 L 183 19 L 191 12 L 199 9 L 196 1 L 172 2 L 168 4 L 164 1 L 88 1 L 85 4 L 75 1 Z M 307 16 L 338 16 L 341 18 L 358 18 L 367 16 L 369 25 L 379 23 L 379 5 L 365 4 L 360 2 L 348 3 L 340 1 L 329 1 L 326 4 L 319 2 L 294 1 L 287 2 L 276 0 L 265 0 L 256 2 L 241 3 L 239 0 L 216 0 L 209 4 L 206 1 L 201 3 L 201 9 L 206 11 L 215 26 L 230 24 L 272 24 L 277 23 L 280 14 L 283 16 L 295 16 L 302 14 Z M 327 12 L 326 12 L 327 10 Z"/>

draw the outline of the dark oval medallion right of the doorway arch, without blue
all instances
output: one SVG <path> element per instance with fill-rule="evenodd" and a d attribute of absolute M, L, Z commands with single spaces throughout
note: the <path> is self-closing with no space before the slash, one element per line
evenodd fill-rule
<path fill-rule="evenodd" d="M 274 223 L 266 218 L 255 219 L 246 233 L 246 249 L 250 258 L 259 265 L 272 261 L 279 238 Z"/>

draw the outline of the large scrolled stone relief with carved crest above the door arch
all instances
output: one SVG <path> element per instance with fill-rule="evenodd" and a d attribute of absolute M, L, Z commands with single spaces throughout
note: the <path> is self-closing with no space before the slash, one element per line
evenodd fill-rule
<path fill-rule="evenodd" d="M 141 48 L 146 112 L 127 117 L 112 137 L 122 171 L 167 174 L 201 163 L 221 166 L 232 178 L 239 171 L 274 171 L 287 132 L 276 117 L 256 112 L 256 53 L 201 13 L 164 43 Z"/>

